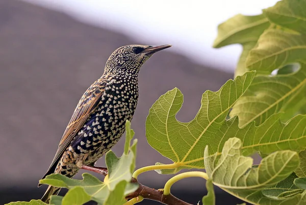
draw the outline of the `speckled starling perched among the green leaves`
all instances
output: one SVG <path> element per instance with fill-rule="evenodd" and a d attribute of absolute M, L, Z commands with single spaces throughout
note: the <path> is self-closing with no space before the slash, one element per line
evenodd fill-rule
<path fill-rule="evenodd" d="M 154 53 L 172 45 L 124 45 L 108 58 L 103 75 L 83 94 L 63 133 L 57 152 L 42 177 L 59 173 L 73 177 L 83 166 L 93 167 L 121 138 L 138 102 L 138 74 Z M 38 184 L 40 187 L 41 184 Z M 60 188 L 48 186 L 48 202 Z"/>

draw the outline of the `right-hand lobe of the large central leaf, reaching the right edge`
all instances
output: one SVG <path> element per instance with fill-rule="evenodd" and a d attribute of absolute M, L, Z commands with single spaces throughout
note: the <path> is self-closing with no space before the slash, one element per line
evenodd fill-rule
<path fill-rule="evenodd" d="M 218 149 L 210 145 L 211 154 L 221 154 L 224 143 L 236 136 L 242 141 L 243 155 L 251 155 L 254 151 L 269 154 L 279 150 L 304 150 L 306 147 L 306 116 L 296 116 L 287 123 L 282 123 L 282 113 L 268 118 L 256 127 L 249 123 L 243 128 L 238 127 L 238 119 L 232 118 L 215 133 L 211 144 L 218 144 Z"/>

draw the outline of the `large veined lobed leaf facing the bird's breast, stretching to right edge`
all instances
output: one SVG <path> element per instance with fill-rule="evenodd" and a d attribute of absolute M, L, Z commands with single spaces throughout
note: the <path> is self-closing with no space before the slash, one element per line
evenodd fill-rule
<path fill-rule="evenodd" d="M 171 92 L 172 97 L 169 95 Z M 177 96 L 177 93 L 175 95 Z M 282 123 L 283 115 L 277 113 L 272 114 L 260 126 L 256 126 L 256 123 L 253 122 L 240 128 L 237 117 L 225 120 L 224 115 L 222 120 L 218 120 L 218 123 L 216 120 L 215 122 L 207 120 L 210 107 L 202 104 L 193 121 L 181 123 L 175 119 L 175 115 L 183 99 L 181 93 L 178 97 L 175 95 L 172 90 L 162 96 L 150 109 L 146 122 L 148 143 L 174 162 L 173 169 L 158 170 L 158 173 L 173 174 L 186 168 L 204 168 L 203 164 L 199 163 L 203 157 L 201 153 L 204 146 L 209 145 L 211 155 L 214 153 L 220 155 L 224 143 L 233 136 L 242 141 L 241 149 L 244 155 L 250 155 L 256 151 L 261 155 L 266 155 L 279 150 L 301 151 L 306 148 L 306 116 L 298 115 Z M 173 101 L 170 101 L 169 97 Z M 218 107 L 210 102 L 209 98 L 207 99 L 211 107 L 214 109 Z M 166 102 L 173 103 L 166 104 L 168 107 L 165 107 Z M 173 109 L 173 104 L 179 107 Z M 168 112 L 165 113 L 166 110 Z M 213 113 L 218 115 L 216 112 Z M 197 124 L 193 123 L 194 121 Z"/>

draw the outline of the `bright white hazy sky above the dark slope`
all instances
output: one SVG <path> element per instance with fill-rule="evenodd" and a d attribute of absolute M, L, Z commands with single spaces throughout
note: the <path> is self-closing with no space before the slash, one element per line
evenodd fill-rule
<path fill-rule="evenodd" d="M 213 49 L 217 26 L 238 13 L 257 15 L 277 0 L 24 0 L 62 10 L 82 21 L 124 32 L 148 44 L 172 44 L 199 63 L 232 71 L 240 45 Z"/>

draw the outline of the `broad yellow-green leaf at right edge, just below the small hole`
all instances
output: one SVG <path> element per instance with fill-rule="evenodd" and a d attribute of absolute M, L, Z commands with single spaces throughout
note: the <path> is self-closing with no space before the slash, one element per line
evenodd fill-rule
<path fill-rule="evenodd" d="M 303 98 L 306 87 L 306 64 L 298 72 L 287 75 L 257 76 L 244 95 L 233 106 L 230 116 L 238 116 L 240 126 L 251 121 L 262 124 L 277 112 L 285 112 L 285 119 L 300 108 L 297 99 Z M 303 101 L 301 103 L 304 103 Z M 288 112 L 287 112 L 288 111 Z"/>

